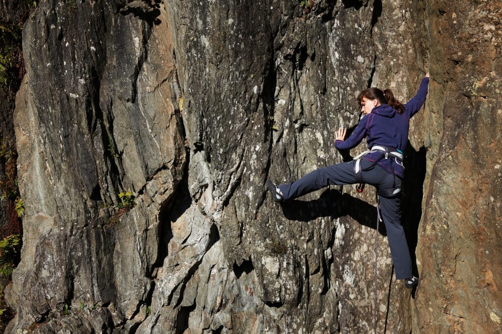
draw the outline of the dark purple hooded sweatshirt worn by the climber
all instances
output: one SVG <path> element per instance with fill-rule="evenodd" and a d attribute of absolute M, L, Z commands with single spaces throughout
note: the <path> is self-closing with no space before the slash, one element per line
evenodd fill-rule
<path fill-rule="evenodd" d="M 373 145 L 383 145 L 396 148 L 401 153 L 404 152 L 408 142 L 408 130 L 410 127 L 410 118 L 415 115 L 425 101 L 427 95 L 427 86 L 429 78 L 423 78 L 420 83 L 417 95 L 408 103 L 405 103 L 405 110 L 400 114 L 396 109 L 388 104 L 381 104 L 374 107 L 371 112 L 361 118 L 352 135 L 345 141 L 335 140 L 335 146 L 338 149 L 350 149 L 357 146 L 361 140 L 367 136 L 366 141 L 371 149 Z M 378 160 L 382 153 L 367 153 L 363 158 L 369 161 Z M 378 164 L 387 172 L 404 178 L 405 168 L 396 158 L 389 157 L 381 159 Z"/>

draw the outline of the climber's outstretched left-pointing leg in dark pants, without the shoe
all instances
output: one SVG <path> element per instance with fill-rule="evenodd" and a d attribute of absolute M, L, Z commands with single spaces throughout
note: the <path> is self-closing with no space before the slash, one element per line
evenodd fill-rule
<path fill-rule="evenodd" d="M 348 185 L 356 183 L 354 161 L 332 164 L 310 172 L 301 179 L 280 185 L 284 200 L 300 197 L 329 185 Z"/>

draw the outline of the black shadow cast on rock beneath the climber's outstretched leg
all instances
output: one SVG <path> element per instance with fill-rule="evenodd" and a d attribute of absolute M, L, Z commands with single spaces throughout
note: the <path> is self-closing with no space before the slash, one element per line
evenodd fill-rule
<path fill-rule="evenodd" d="M 324 191 L 316 200 L 287 201 L 283 203 L 282 209 L 284 216 L 289 220 L 309 222 L 320 217 L 336 219 L 350 216 L 359 224 L 376 229 L 376 207 L 334 189 Z M 379 232 L 387 235 L 384 224 L 380 224 Z"/>

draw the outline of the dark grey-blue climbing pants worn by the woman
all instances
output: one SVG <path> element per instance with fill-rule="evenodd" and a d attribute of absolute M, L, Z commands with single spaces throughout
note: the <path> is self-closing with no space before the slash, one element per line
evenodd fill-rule
<path fill-rule="evenodd" d="M 332 164 L 315 170 L 293 183 L 280 185 L 284 200 L 294 199 L 329 185 L 357 183 L 354 177 L 354 163 L 355 161 Z M 363 158 L 361 168 L 364 170 L 369 165 L 371 161 Z M 362 172 L 362 179 L 364 183 L 383 190 L 393 189 L 395 182 L 401 182 L 399 178 L 395 180 L 394 175 L 386 172 L 378 164 L 369 171 Z M 401 194 L 390 198 L 383 196 L 379 198 L 382 219 L 387 230 L 392 261 L 396 270 L 396 279 L 412 277 L 410 251 L 401 225 Z"/>

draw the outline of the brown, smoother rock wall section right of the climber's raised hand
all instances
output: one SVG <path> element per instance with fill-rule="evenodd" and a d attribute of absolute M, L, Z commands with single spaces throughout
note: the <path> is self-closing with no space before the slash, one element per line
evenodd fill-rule
<path fill-rule="evenodd" d="M 436 14 L 429 15 L 438 41 L 430 62 L 438 79 L 429 106 L 438 113 L 430 124 L 439 133 L 432 139 L 429 131 L 426 139 L 434 148 L 419 228 L 414 328 L 500 332 L 502 5 L 433 3 L 427 11 Z"/>

